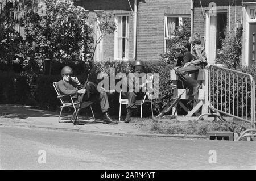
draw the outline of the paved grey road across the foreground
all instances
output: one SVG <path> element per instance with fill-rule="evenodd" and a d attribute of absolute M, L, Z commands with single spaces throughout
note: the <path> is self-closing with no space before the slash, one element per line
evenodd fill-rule
<path fill-rule="evenodd" d="M 0 127 L 0 169 L 256 169 L 256 142 Z"/>

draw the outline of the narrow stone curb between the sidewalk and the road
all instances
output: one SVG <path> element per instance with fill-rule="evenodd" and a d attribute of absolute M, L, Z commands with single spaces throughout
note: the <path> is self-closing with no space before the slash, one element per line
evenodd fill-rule
<path fill-rule="evenodd" d="M 48 129 L 48 130 L 63 130 L 81 133 L 98 133 L 98 134 L 108 134 L 116 136 L 139 136 L 139 137 L 174 137 L 174 138 L 197 138 L 197 139 L 207 139 L 206 136 L 201 135 L 186 135 L 186 134 L 129 134 L 129 133 L 114 133 L 114 132 L 101 132 L 101 131 L 87 131 L 81 130 L 81 128 L 56 128 L 56 127 L 44 127 L 37 125 L 17 125 L 17 124 L 2 124 L 0 127 L 23 127 L 23 128 L 34 128 L 34 129 Z"/>

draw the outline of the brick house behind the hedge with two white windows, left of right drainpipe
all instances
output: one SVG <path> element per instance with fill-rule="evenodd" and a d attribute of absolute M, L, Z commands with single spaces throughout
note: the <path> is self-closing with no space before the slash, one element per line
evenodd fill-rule
<path fill-rule="evenodd" d="M 95 60 L 158 61 L 170 32 L 191 16 L 191 0 L 77 0 L 75 5 L 115 15 L 117 31 L 97 47 Z"/>

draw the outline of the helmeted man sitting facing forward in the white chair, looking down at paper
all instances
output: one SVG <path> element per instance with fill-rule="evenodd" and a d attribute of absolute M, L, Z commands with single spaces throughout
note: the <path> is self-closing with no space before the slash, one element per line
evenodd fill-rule
<path fill-rule="evenodd" d="M 126 106 L 126 117 L 125 117 L 125 123 L 129 123 L 131 121 L 131 113 L 133 111 L 133 108 L 135 108 L 135 102 L 136 100 L 142 99 L 145 95 L 145 93 L 142 91 L 142 88 L 146 86 L 146 83 L 142 83 L 142 77 L 144 72 L 144 65 L 141 60 L 135 60 L 133 62 L 133 73 L 135 78 L 139 78 L 139 81 L 136 82 L 134 79 L 131 79 L 131 77 L 123 77 L 123 86 L 129 87 L 129 91 L 124 93 L 128 99 L 128 104 Z M 137 73 L 137 74 L 136 74 Z M 141 74 L 140 76 L 138 76 Z M 146 74 L 144 74 L 146 76 Z M 133 85 L 133 86 L 130 86 Z M 139 90 L 139 91 L 138 91 Z"/>

